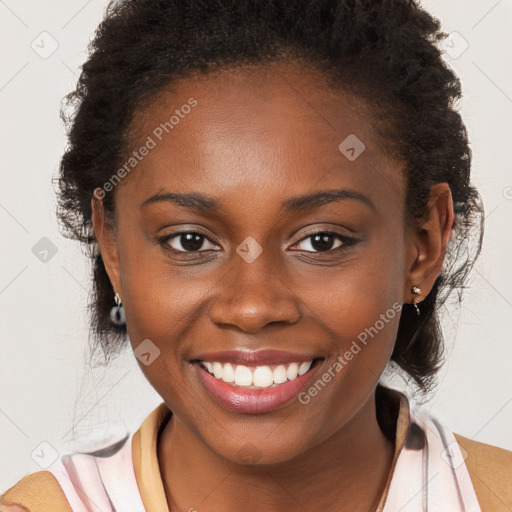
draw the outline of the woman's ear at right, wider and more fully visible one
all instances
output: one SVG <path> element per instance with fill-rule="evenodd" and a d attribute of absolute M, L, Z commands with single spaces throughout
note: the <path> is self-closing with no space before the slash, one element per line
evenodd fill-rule
<path fill-rule="evenodd" d="M 423 300 L 438 278 L 450 239 L 455 214 L 448 183 L 436 183 L 430 189 L 427 212 L 413 229 L 410 239 L 409 282 L 405 283 L 404 302 L 415 297 Z M 420 295 L 411 293 L 411 287 L 420 288 Z"/>

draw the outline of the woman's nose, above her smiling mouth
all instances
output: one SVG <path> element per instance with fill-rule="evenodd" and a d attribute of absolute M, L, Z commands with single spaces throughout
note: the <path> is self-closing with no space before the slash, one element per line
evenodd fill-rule
<path fill-rule="evenodd" d="M 252 263 L 243 260 L 217 285 L 211 304 L 211 320 L 257 333 L 268 324 L 294 324 L 301 317 L 298 299 L 275 269 L 260 256 Z"/>

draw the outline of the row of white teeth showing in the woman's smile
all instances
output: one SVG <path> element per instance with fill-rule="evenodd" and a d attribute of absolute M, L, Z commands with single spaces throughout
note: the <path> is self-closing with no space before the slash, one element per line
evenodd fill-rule
<path fill-rule="evenodd" d="M 304 375 L 313 364 L 313 360 L 303 363 L 280 364 L 274 368 L 270 366 L 248 367 L 231 363 L 211 363 L 203 361 L 208 372 L 224 382 L 234 383 L 236 386 L 269 388 L 276 384 L 282 384 L 288 380 L 294 380 Z"/>

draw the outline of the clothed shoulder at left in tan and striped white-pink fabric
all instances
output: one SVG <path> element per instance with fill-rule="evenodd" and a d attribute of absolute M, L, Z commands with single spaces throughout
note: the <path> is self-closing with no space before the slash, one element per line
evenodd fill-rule
<path fill-rule="evenodd" d="M 25 476 L 3 494 L 0 490 L 0 512 L 72 512 L 112 508 L 144 511 L 134 458 L 140 466 L 141 442 L 145 453 L 153 453 L 159 427 L 170 414 L 162 402 L 136 432 L 87 442 L 82 450 L 61 456 L 47 470 Z M 132 449 L 134 441 L 138 447 L 135 454 Z M 94 496 L 94 502 L 88 496 Z"/>

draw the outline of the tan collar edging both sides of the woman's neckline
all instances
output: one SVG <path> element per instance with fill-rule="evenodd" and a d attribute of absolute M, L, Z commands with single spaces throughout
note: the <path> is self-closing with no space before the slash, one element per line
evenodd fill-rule
<path fill-rule="evenodd" d="M 381 512 L 384 507 L 396 461 L 405 445 L 410 425 L 410 409 L 406 396 L 397 391 L 391 391 L 391 394 L 395 395 L 395 399 L 400 401 L 396 424 L 395 451 L 391 471 L 375 512 Z M 147 512 L 169 512 L 158 464 L 157 441 L 161 429 L 165 426 L 171 415 L 172 413 L 166 403 L 162 402 L 146 417 L 140 428 L 133 434 L 133 467 L 142 501 Z"/>

